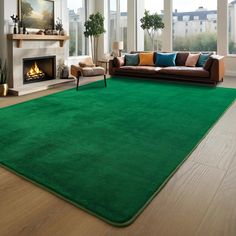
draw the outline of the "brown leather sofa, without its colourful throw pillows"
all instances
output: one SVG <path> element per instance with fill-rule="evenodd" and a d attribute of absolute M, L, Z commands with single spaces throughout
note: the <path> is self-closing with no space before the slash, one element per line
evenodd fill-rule
<path fill-rule="evenodd" d="M 186 67 L 188 54 L 188 52 L 178 52 L 176 66 L 170 67 L 125 66 L 124 57 L 114 58 L 109 61 L 109 73 L 114 76 L 193 81 L 214 85 L 223 81 L 225 72 L 223 56 L 211 55 L 203 67 Z"/>

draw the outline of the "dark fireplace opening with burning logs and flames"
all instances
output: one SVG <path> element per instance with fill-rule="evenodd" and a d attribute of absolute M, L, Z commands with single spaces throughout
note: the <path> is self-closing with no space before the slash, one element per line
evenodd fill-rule
<path fill-rule="evenodd" d="M 56 79 L 56 56 L 23 58 L 24 84 Z"/>

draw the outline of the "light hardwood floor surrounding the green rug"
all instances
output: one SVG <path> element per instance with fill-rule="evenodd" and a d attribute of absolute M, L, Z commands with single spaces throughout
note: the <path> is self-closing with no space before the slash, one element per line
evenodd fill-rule
<path fill-rule="evenodd" d="M 88 82 L 82 81 L 82 83 Z M 236 78 L 220 86 L 236 88 Z M 75 87 L 74 83 L 0 107 Z M 236 235 L 236 102 L 138 219 L 117 228 L 0 168 L 0 235 Z"/>

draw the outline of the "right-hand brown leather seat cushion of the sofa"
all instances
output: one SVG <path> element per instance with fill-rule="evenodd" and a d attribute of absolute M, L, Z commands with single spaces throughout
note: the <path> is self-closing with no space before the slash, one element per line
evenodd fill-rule
<path fill-rule="evenodd" d="M 209 77 L 209 71 L 204 70 L 202 67 L 171 66 L 162 68 L 158 73 L 190 77 Z"/>

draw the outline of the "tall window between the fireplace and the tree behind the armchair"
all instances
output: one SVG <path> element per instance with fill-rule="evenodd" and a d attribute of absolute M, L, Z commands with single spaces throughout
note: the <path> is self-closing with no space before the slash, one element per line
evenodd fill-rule
<path fill-rule="evenodd" d="M 87 40 L 84 37 L 86 19 L 86 0 L 68 0 L 69 8 L 69 56 L 87 54 Z"/>

